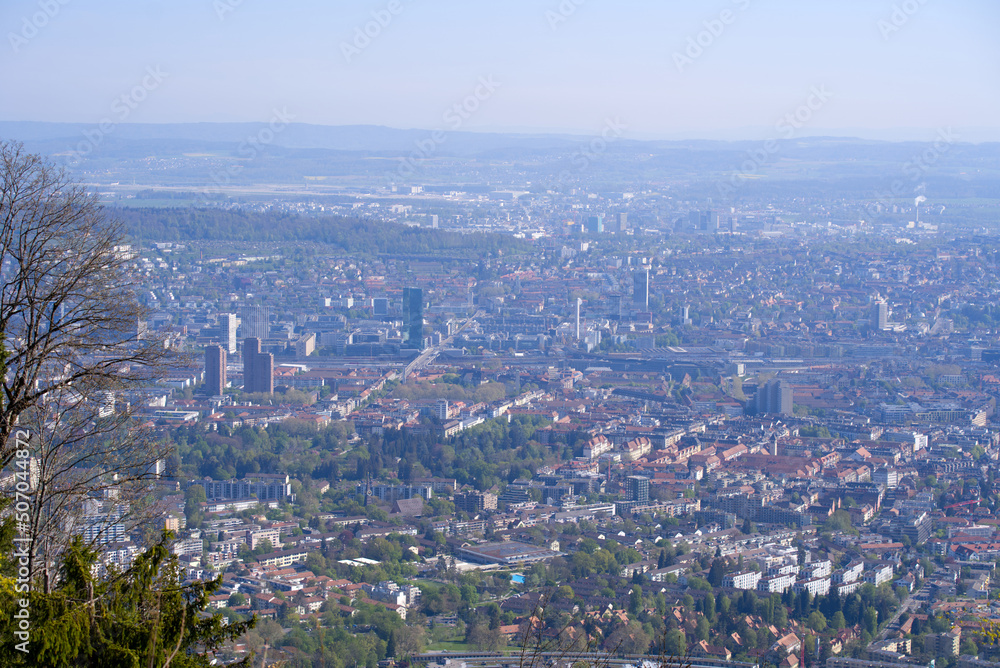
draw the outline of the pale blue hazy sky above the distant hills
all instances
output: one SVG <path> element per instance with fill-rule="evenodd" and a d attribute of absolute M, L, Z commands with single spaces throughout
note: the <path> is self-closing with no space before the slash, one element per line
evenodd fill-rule
<path fill-rule="evenodd" d="M 998 26 L 997 0 L 3 0 L 0 120 L 285 109 L 328 125 L 618 119 L 636 137 L 755 137 L 798 113 L 800 134 L 932 137 L 1000 126 Z"/>

